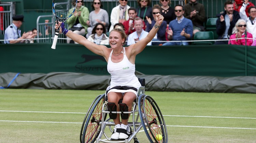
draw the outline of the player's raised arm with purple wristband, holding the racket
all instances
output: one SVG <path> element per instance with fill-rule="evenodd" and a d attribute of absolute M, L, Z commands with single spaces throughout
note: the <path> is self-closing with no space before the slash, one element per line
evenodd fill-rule
<path fill-rule="evenodd" d="M 59 24 L 55 24 L 55 29 L 58 29 L 58 27 L 61 25 L 61 28 L 60 28 L 60 33 L 63 33 L 65 34 L 66 36 L 68 36 L 69 38 L 71 38 L 73 41 L 85 46 L 88 50 L 90 50 L 91 52 L 97 54 L 97 55 L 101 55 L 103 56 L 105 59 L 107 59 L 107 55 L 108 55 L 108 51 L 109 51 L 109 48 L 107 48 L 106 46 L 104 45 L 98 45 L 98 44 L 95 44 L 89 40 L 87 40 L 84 36 L 82 35 L 79 35 L 79 34 L 75 34 L 71 31 L 68 31 L 65 26 L 64 26 L 64 23 L 62 22 L 59 22 Z M 63 31 L 63 32 L 62 32 Z"/>

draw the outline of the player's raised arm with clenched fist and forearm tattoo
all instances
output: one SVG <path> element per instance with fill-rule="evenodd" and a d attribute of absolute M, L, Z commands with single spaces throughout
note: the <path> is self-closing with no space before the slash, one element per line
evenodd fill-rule
<path fill-rule="evenodd" d="M 162 22 L 163 22 L 163 16 L 160 15 L 159 13 L 156 14 L 156 24 L 153 26 L 153 28 L 148 33 L 148 35 L 145 38 L 141 39 L 136 44 L 130 45 L 131 48 L 132 48 L 132 52 L 131 52 L 132 55 L 137 55 L 141 51 L 143 51 L 143 49 L 146 47 L 147 43 L 152 41 L 152 39 L 155 37 L 155 35 L 156 35 L 158 29 L 160 28 L 160 25 L 162 24 Z"/>

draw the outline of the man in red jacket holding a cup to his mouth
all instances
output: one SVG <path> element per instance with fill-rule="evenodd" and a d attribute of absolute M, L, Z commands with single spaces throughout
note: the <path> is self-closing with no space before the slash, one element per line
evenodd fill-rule
<path fill-rule="evenodd" d="M 125 21 L 123 24 L 124 24 L 124 30 L 125 30 L 125 34 L 126 35 L 129 35 L 131 34 L 132 32 L 135 31 L 135 28 L 133 26 L 134 24 L 134 19 L 137 16 L 137 12 L 136 12 L 136 8 L 134 7 L 130 7 L 129 10 L 128 10 L 128 15 L 129 15 L 129 19 L 127 21 Z M 146 25 L 145 25 L 145 22 L 143 21 L 143 30 L 146 30 Z"/>

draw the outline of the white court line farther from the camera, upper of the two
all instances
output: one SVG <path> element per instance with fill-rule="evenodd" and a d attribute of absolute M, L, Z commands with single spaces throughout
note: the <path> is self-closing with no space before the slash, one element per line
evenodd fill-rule
<path fill-rule="evenodd" d="M 46 112 L 46 111 L 8 111 L 0 110 L 0 112 L 31 112 L 31 113 L 67 113 L 67 114 L 86 114 L 81 112 Z M 163 115 L 167 117 L 200 117 L 200 118 L 233 118 L 233 119 L 256 119 L 247 117 L 214 117 L 214 116 L 187 116 L 187 115 Z"/>

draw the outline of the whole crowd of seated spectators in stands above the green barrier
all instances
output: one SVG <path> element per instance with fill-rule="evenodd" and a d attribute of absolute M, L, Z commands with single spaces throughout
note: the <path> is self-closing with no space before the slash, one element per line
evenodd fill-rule
<path fill-rule="evenodd" d="M 83 0 L 78 0 L 74 14 L 66 21 L 69 25 L 68 29 L 88 39 L 90 37 L 91 41 L 97 44 L 108 44 L 99 40 L 106 41 L 108 33 L 114 29 L 115 25 L 119 25 L 128 35 L 127 44 L 129 45 L 146 36 L 155 24 L 155 15 L 160 13 L 164 16 L 164 21 L 156 37 L 148 45 L 188 45 L 190 42 L 187 41 L 193 40 L 197 32 L 205 31 L 207 20 L 205 8 L 197 0 L 189 0 L 185 5 L 174 7 L 170 6 L 171 0 L 159 0 L 159 5 L 153 7 L 151 7 L 151 0 L 137 0 L 137 8 L 127 5 L 128 0 L 118 2 L 119 4 L 111 11 L 109 21 L 108 12 L 104 10 L 101 0 L 93 0 L 91 12 L 84 6 Z M 256 7 L 253 3 L 248 0 L 226 1 L 224 11 L 216 14 L 216 17 L 216 34 L 219 40 L 214 44 L 256 45 L 256 40 L 253 40 L 256 38 Z M 12 27 L 16 28 L 16 26 Z M 18 31 L 14 35 L 12 39 L 26 36 L 26 34 L 20 35 Z M 244 37 L 249 38 L 248 42 L 244 42 Z M 5 39 L 10 40 L 8 37 Z M 13 43 L 13 41 L 6 43 Z M 68 39 L 67 43 L 72 41 Z"/>

